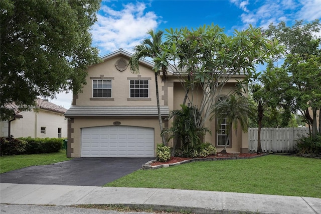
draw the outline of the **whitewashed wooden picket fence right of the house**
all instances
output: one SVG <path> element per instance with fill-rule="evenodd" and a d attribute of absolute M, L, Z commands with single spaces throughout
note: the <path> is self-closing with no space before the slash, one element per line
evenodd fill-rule
<path fill-rule="evenodd" d="M 257 150 L 258 128 L 249 128 L 249 151 Z M 308 128 L 262 128 L 261 146 L 263 152 L 291 152 L 295 149 L 296 139 L 309 132 Z"/>

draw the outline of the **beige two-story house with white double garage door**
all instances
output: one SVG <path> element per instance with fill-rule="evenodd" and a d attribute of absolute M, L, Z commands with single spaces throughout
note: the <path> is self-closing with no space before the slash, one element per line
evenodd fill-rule
<path fill-rule="evenodd" d="M 159 129 L 153 64 L 141 61 L 139 74 L 127 67 L 131 54 L 119 49 L 88 68 L 87 84 L 73 95 L 68 118 L 68 157 L 152 157 L 162 143 Z M 218 99 L 228 94 L 238 75 L 229 80 Z M 170 111 L 180 109 L 185 92 L 173 72 L 165 82 L 158 78 L 163 126 L 169 128 Z M 217 131 L 217 120 L 207 121 L 212 130 L 204 142 L 224 148 L 226 126 Z M 172 146 L 173 142 L 170 141 Z M 248 136 L 231 131 L 228 152 L 248 152 Z"/>

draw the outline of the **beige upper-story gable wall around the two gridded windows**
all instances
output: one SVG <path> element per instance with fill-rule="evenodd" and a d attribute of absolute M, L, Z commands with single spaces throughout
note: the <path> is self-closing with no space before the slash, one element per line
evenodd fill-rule
<path fill-rule="evenodd" d="M 126 63 L 128 63 L 129 58 L 125 56 L 117 56 L 111 58 L 103 63 L 91 66 L 88 69 L 88 76 L 86 77 L 87 84 L 83 87 L 83 92 L 78 94 L 78 98 L 76 99 L 76 105 L 156 105 L 156 90 L 155 90 L 155 75 L 154 72 L 150 69 L 150 67 L 146 67 L 144 65 L 139 66 L 139 73 L 133 74 L 130 72 L 129 67 L 127 67 L 124 71 L 119 71 L 115 67 L 115 63 L 117 60 L 123 59 Z M 95 79 L 100 79 L 101 77 L 106 79 L 111 79 L 112 91 L 111 98 L 113 100 L 106 100 L 96 98 L 98 100 L 90 100 L 93 98 L 93 77 L 97 77 Z M 149 80 L 149 97 L 148 98 L 132 98 L 128 100 L 129 97 L 129 80 L 130 79 L 148 79 Z M 162 91 L 162 80 L 158 79 L 158 91 L 159 97 L 164 95 Z M 164 105 L 164 101 L 161 99 L 160 104 Z"/>

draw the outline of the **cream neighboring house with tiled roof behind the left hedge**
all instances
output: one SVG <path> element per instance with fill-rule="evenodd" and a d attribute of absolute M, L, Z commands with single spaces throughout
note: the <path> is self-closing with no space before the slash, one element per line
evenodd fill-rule
<path fill-rule="evenodd" d="M 30 106 L 31 111 L 18 112 L 15 110 L 15 118 L 8 121 L 2 121 L 1 137 L 10 134 L 15 138 L 67 138 L 67 119 L 64 113 L 67 112 L 63 106 L 56 105 L 44 99 L 37 99 L 37 105 Z M 9 106 L 15 108 L 15 105 Z"/>

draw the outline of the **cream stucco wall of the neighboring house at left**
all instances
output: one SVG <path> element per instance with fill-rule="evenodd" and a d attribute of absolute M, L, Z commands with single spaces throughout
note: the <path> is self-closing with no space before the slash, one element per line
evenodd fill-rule
<path fill-rule="evenodd" d="M 67 120 L 64 115 L 39 110 L 39 112 L 21 112 L 22 119 L 11 122 L 11 134 L 15 138 L 57 138 L 58 128 L 62 130 L 62 138 L 67 138 Z M 7 122 L 8 123 L 8 122 Z M 40 133 L 41 127 L 46 127 L 46 134 Z"/>

